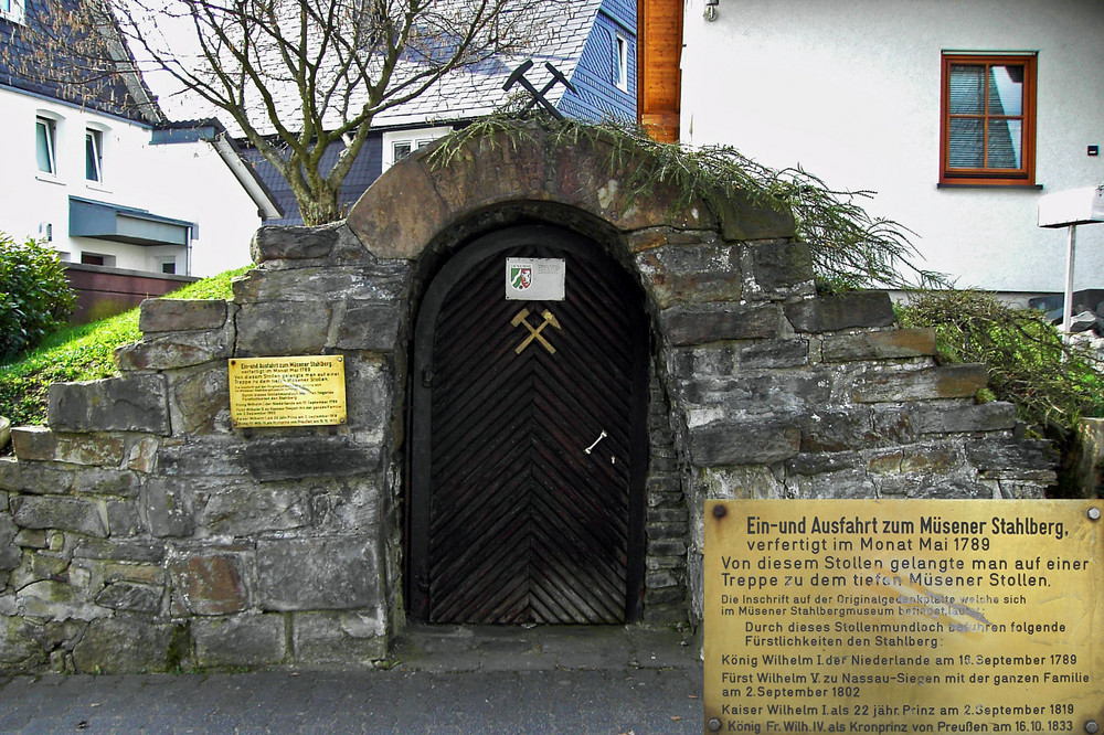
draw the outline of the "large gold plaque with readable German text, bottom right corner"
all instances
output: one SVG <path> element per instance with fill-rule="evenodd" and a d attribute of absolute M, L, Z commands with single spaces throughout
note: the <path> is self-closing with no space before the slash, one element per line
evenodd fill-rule
<path fill-rule="evenodd" d="M 705 733 L 1096 733 L 1102 501 L 705 505 Z"/>

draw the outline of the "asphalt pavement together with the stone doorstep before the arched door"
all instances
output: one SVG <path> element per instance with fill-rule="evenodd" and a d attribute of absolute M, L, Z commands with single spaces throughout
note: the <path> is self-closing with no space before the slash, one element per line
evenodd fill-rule
<path fill-rule="evenodd" d="M 385 670 L 0 677 L 0 732 L 701 733 L 699 650 L 637 627 L 432 628 Z"/>

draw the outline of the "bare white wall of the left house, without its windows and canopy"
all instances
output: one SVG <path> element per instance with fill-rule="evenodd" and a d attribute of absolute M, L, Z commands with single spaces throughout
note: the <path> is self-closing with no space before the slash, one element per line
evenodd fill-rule
<path fill-rule="evenodd" d="M 160 270 L 169 247 L 70 237 L 70 196 L 147 210 L 198 224 L 190 275 L 206 276 L 250 263 L 250 239 L 261 226 L 257 206 L 205 142 L 150 145 L 150 128 L 49 99 L 0 89 L 0 134 L 10 147 L 0 167 L 0 232 L 15 239 L 45 237 L 66 260 L 82 253 L 114 257 L 117 268 Z M 56 120 L 57 175 L 39 172 L 35 117 Z M 85 179 L 85 129 L 103 131 L 103 183 Z M 183 248 L 176 248 L 184 274 Z"/>

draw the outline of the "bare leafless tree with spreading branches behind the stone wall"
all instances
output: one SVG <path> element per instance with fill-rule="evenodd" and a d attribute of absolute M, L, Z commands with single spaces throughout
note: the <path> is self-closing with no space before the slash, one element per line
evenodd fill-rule
<path fill-rule="evenodd" d="M 287 180 L 306 224 L 343 216 L 341 182 L 376 115 L 450 74 L 532 53 L 571 12 L 569 0 L 28 2 L 67 26 L 46 29 L 55 39 L 79 29 L 66 43 L 88 58 L 74 64 L 85 77 L 124 74 L 137 58 L 224 114 Z"/>

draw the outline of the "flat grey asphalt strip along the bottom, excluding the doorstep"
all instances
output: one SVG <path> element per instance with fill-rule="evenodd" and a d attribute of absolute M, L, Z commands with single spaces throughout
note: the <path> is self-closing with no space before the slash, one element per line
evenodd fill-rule
<path fill-rule="evenodd" d="M 3 733 L 701 733 L 701 670 L 0 678 Z"/>

